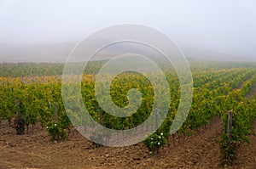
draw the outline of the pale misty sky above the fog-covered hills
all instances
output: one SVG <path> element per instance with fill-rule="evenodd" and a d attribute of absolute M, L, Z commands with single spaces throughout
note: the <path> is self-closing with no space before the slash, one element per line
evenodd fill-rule
<path fill-rule="evenodd" d="M 256 59 L 256 0 L 0 0 L 0 45 L 14 50 L 20 44 L 75 43 L 124 23 L 151 26 L 181 48 Z"/>

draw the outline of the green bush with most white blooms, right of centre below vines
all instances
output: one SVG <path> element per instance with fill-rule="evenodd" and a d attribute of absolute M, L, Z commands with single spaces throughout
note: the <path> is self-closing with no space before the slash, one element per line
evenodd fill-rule
<path fill-rule="evenodd" d="M 154 155 L 155 153 L 158 153 L 160 147 L 166 144 L 166 138 L 164 137 L 163 132 L 154 132 L 148 138 L 143 140 L 143 144 L 148 148 L 149 154 Z"/>

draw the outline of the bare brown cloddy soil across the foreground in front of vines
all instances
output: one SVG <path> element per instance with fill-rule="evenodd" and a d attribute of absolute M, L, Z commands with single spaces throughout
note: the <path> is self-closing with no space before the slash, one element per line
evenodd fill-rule
<path fill-rule="evenodd" d="M 254 132 L 256 132 L 254 124 Z M 35 129 L 34 134 L 15 135 L 7 121 L 0 127 L 0 169 L 2 168 L 217 168 L 218 144 L 223 131 L 219 119 L 175 145 L 166 145 L 158 155 L 148 155 L 143 144 L 123 148 L 94 149 L 79 132 L 69 139 L 49 143 L 47 132 Z M 235 166 L 256 167 L 256 137 L 243 144 Z"/>

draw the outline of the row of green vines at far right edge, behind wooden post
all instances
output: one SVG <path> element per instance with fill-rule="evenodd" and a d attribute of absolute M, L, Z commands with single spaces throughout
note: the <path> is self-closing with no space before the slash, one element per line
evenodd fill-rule
<path fill-rule="evenodd" d="M 249 76 L 241 87 L 231 91 L 225 100 L 227 109 L 232 110 L 231 135 L 228 135 L 228 110 L 223 113 L 224 134 L 219 144 L 220 165 L 231 166 L 236 161 L 238 149 L 243 142 L 250 144 L 247 138 L 252 134 L 253 121 L 256 118 L 256 100 L 247 99 L 246 95 L 256 84 L 256 75 Z"/>

